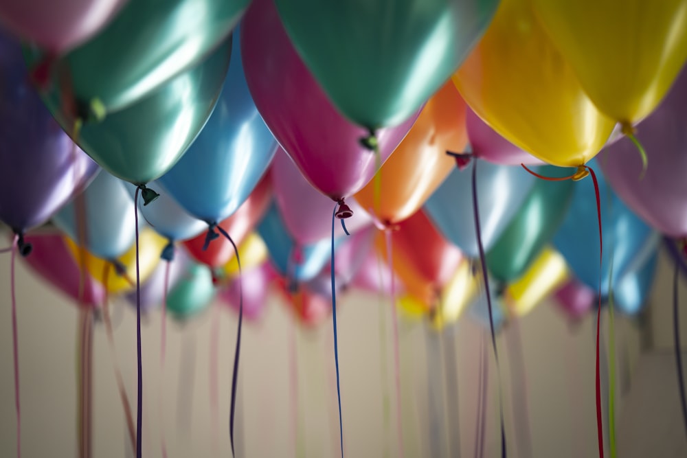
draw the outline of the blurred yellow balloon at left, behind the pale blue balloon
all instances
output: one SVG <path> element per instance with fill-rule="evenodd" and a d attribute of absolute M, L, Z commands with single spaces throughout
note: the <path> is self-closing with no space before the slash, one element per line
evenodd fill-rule
<path fill-rule="evenodd" d="M 117 262 L 124 267 L 126 273 L 126 275 L 118 275 L 110 261 L 95 257 L 86 249 L 79 247 L 67 236 L 65 236 L 65 242 L 76 262 L 79 265 L 83 265 L 82 262 L 84 262 L 89 275 L 102 283 L 110 294 L 126 293 L 136 287 L 135 283 L 133 283 L 133 286 L 131 284 L 131 282 L 136 281 L 135 244 L 126 253 L 117 258 Z M 146 228 L 141 231 L 139 236 L 141 283 L 145 282 L 155 270 L 155 266 L 160 262 L 160 253 L 162 253 L 166 244 L 167 240 L 157 235 L 153 229 Z M 106 278 L 103 278 L 104 274 L 107 275 Z"/>

